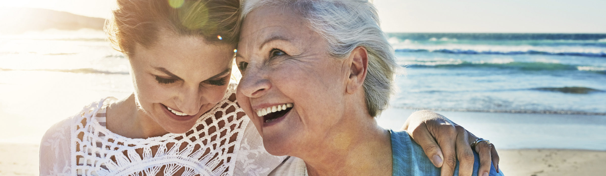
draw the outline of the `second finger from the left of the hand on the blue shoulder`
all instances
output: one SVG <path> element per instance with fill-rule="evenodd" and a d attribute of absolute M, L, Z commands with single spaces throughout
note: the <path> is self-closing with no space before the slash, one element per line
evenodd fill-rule
<path fill-rule="evenodd" d="M 429 129 L 431 131 L 431 129 Z M 450 176 L 454 174 L 454 168 L 456 167 L 456 152 L 454 149 L 454 140 L 456 139 L 456 130 L 452 126 L 442 126 L 441 133 L 445 135 L 436 136 L 438 140 L 438 144 L 442 149 L 442 153 L 444 154 L 444 161 L 442 163 L 441 174 L 442 176 Z M 433 133 L 437 134 L 437 133 Z"/>

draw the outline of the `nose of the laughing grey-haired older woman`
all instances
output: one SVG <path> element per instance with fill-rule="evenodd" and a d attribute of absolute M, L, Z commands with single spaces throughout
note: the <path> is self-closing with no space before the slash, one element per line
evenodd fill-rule
<path fill-rule="evenodd" d="M 271 89 L 271 82 L 267 79 L 267 74 L 262 69 L 248 65 L 248 68 L 242 73 L 238 91 L 250 98 L 263 96 Z"/>

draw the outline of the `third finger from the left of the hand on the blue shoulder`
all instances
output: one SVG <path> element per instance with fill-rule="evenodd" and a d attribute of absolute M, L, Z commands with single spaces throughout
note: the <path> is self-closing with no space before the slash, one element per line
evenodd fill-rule
<path fill-rule="evenodd" d="M 473 174 L 473 150 L 468 143 L 467 130 L 461 126 L 455 127 L 457 130 L 456 137 L 456 157 L 459 159 L 459 176 L 470 176 Z"/>

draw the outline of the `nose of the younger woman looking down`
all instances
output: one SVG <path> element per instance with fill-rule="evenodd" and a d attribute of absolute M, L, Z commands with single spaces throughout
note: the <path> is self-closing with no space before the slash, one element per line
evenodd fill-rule
<path fill-rule="evenodd" d="M 181 93 L 179 93 L 178 98 L 176 105 L 182 113 L 186 113 L 187 115 L 198 114 L 202 104 L 202 96 L 197 85 L 184 87 Z"/>

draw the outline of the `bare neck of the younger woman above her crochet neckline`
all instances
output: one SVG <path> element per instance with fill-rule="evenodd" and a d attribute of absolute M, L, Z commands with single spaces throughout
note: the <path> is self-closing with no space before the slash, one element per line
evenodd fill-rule
<path fill-rule="evenodd" d="M 108 130 L 128 138 L 145 139 L 168 133 L 138 108 L 134 93 L 110 104 L 107 107 L 106 118 Z"/>

